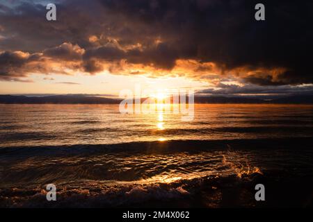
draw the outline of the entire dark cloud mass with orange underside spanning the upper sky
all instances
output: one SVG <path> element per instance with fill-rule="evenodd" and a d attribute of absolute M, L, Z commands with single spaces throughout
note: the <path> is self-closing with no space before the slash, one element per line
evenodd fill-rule
<path fill-rule="evenodd" d="M 313 83 L 312 1 L 264 0 L 262 22 L 254 19 L 259 2 L 248 0 L 56 1 L 57 22 L 47 22 L 45 6 L 36 2 L 0 3 L 0 50 L 81 60 L 77 69 L 90 74 L 102 71 L 102 62 L 170 71 L 177 60 L 196 60 L 198 71 L 212 62 L 220 75 L 255 85 Z M 6 56 L 1 78 L 15 78 L 25 58 Z"/>

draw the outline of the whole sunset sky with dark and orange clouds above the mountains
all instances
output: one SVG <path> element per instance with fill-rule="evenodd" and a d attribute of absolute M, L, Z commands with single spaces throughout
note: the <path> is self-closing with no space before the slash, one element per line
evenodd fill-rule
<path fill-rule="evenodd" d="M 313 1 L 256 3 L 0 1 L 0 94 L 313 94 Z"/>

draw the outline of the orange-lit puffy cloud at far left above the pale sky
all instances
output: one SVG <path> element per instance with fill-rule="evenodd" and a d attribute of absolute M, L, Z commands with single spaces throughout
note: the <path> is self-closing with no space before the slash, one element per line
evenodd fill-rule
<path fill-rule="evenodd" d="M 30 74 L 71 75 L 83 71 L 83 53 L 79 46 L 67 42 L 38 53 L 3 51 L 0 52 L 0 80 L 25 81 Z"/>

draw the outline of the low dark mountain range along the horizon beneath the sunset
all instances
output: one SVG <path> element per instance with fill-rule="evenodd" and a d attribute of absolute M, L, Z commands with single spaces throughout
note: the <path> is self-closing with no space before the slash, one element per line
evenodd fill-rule
<path fill-rule="evenodd" d="M 0 103 L 5 104 L 118 104 L 122 99 L 99 96 L 56 95 L 56 96 L 13 96 L 0 95 Z M 142 99 L 143 101 L 143 99 Z M 313 96 L 288 96 L 270 101 L 247 97 L 195 96 L 195 103 L 291 103 L 312 104 Z"/>

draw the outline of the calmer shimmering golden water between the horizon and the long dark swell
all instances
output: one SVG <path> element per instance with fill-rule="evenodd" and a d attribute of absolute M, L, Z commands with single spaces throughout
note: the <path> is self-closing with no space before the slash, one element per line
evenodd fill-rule
<path fill-rule="evenodd" d="M 120 114 L 118 105 L 0 105 L 0 146 L 121 144 L 177 139 L 310 137 L 311 105 L 195 105 L 180 114 Z"/>

